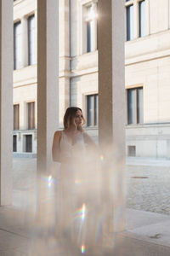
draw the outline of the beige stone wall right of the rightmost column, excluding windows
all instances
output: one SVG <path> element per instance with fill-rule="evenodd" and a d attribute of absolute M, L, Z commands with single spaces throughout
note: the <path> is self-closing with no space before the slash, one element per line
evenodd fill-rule
<path fill-rule="evenodd" d="M 126 88 L 143 85 L 144 125 L 127 126 L 136 156 L 169 158 L 169 1 L 148 1 L 149 35 L 125 44 Z"/>

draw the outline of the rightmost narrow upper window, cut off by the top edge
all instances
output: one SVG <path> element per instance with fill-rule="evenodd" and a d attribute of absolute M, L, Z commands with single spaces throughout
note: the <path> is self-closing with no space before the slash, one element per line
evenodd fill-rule
<path fill-rule="evenodd" d="M 145 36 L 145 1 L 139 2 L 139 37 Z"/>

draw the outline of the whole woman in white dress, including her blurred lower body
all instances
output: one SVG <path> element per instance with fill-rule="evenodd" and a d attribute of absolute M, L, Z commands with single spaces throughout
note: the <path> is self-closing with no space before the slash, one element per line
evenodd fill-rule
<path fill-rule="evenodd" d="M 99 201 L 99 189 L 97 189 L 99 175 L 96 175 L 98 150 L 92 138 L 82 129 L 84 123 L 81 108 L 67 108 L 64 116 L 64 130 L 55 131 L 52 150 L 53 160 L 61 163 L 61 229 L 71 231 L 74 240 L 77 238 L 78 247 L 84 246 L 84 242 L 89 243 L 88 240 L 94 233 L 89 227 L 93 221 L 89 212 L 93 212 L 94 201 L 95 203 Z M 79 214 L 77 214 L 78 209 Z M 87 212 L 88 220 L 86 220 Z M 92 242 L 93 239 L 90 238 L 90 241 Z"/>

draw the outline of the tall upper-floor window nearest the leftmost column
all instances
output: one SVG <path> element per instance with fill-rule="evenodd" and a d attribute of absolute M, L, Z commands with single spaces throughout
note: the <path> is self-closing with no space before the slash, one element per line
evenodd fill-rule
<path fill-rule="evenodd" d="M 14 69 L 21 68 L 22 58 L 22 38 L 21 38 L 21 23 L 14 23 Z"/>

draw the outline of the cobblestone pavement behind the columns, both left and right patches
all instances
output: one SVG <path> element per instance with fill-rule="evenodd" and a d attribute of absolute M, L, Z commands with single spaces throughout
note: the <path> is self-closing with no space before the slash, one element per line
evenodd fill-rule
<path fill-rule="evenodd" d="M 127 165 L 127 207 L 170 215 L 170 166 Z M 36 159 L 14 158 L 14 204 L 32 189 L 36 180 Z"/>

